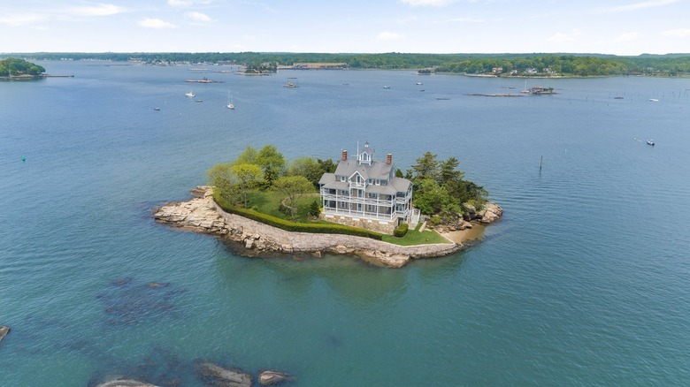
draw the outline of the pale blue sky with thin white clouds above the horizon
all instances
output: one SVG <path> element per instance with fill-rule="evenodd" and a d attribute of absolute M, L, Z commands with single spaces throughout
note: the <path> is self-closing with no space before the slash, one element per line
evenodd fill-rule
<path fill-rule="evenodd" d="M 0 52 L 690 52 L 690 0 L 0 0 Z"/>

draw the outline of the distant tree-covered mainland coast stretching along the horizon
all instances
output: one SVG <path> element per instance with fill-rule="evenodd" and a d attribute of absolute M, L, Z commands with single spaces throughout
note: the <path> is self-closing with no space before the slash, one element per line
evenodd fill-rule
<path fill-rule="evenodd" d="M 417 70 L 420 75 L 459 73 L 498 77 L 690 76 L 690 53 L 620 57 L 602 54 L 329 54 L 329 53 L 16 53 L 31 60 L 134 61 L 144 65 L 240 65 L 263 75 L 280 69 Z M 0 76 L 3 76 L 0 68 Z"/>

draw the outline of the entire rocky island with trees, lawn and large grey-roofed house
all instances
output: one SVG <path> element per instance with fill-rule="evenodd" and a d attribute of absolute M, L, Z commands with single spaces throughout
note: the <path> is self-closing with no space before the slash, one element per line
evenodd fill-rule
<path fill-rule="evenodd" d="M 399 268 L 470 246 L 466 231 L 502 216 L 458 165 L 426 152 L 403 173 L 392 154 L 376 160 L 368 143 L 355 157 L 343 150 L 338 163 L 301 157 L 288 164 L 272 145 L 248 147 L 211 168 L 212 186 L 155 209 L 154 217 L 234 241 L 242 255 L 353 254 Z"/>

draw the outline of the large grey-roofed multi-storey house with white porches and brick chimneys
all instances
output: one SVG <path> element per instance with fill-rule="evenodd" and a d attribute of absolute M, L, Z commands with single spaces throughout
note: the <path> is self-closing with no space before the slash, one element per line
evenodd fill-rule
<path fill-rule="evenodd" d="M 339 224 L 393 233 L 398 224 L 412 215 L 412 183 L 395 177 L 393 156 L 386 162 L 373 159 L 374 150 L 364 143 L 357 158 L 343 150 L 334 173 L 324 173 L 318 182 L 323 211 L 321 216 Z"/>

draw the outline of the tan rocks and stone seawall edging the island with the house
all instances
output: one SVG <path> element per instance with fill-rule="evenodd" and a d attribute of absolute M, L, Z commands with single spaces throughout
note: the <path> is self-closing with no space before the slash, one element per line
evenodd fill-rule
<path fill-rule="evenodd" d="M 284 231 L 220 209 L 213 201 L 210 186 L 197 186 L 192 194 L 194 197 L 188 201 L 168 203 L 154 209 L 156 221 L 234 241 L 241 244 L 242 254 L 248 256 L 266 253 L 353 254 L 375 265 L 400 268 L 411 259 L 439 257 L 466 247 L 464 243 L 450 240 L 433 245 L 398 246 L 351 235 Z M 494 222 L 502 214 L 501 208 L 493 203 L 483 211 L 486 216 L 481 219 L 486 217 L 486 223 Z"/>

